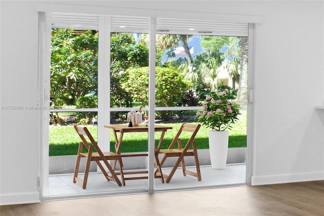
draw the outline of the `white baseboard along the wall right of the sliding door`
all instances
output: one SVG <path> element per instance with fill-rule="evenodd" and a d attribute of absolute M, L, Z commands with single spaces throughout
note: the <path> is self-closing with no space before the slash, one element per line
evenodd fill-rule
<path fill-rule="evenodd" d="M 251 185 L 272 185 L 272 184 L 284 184 L 294 182 L 309 182 L 324 180 L 324 171 L 320 172 L 303 172 L 292 174 L 279 174 L 279 175 L 263 175 L 252 176 Z"/>

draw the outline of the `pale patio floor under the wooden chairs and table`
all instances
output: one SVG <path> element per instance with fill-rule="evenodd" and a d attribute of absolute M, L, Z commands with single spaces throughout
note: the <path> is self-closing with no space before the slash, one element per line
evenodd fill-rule
<path fill-rule="evenodd" d="M 188 170 L 195 169 L 189 167 Z M 125 170 L 126 171 L 126 170 Z M 168 174 L 170 168 L 163 168 Z M 182 175 L 179 167 L 170 183 L 162 184 L 159 178 L 154 179 L 156 191 L 172 191 L 197 188 L 230 187 L 246 184 L 246 163 L 228 164 L 225 169 L 212 169 L 210 165 L 200 166 L 201 181 L 197 178 Z M 79 174 L 83 177 L 83 173 Z M 108 182 L 102 173 L 92 172 L 89 174 L 87 188 L 84 190 L 78 183 L 73 184 L 73 174 L 55 174 L 49 176 L 49 196 L 51 200 L 56 197 L 87 197 L 116 194 L 143 193 L 147 189 L 147 179 L 126 181 L 126 186 L 118 187 L 115 182 Z"/>

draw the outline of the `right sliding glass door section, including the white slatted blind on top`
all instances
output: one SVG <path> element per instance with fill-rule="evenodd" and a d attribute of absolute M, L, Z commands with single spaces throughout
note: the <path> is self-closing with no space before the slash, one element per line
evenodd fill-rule
<path fill-rule="evenodd" d="M 246 184 L 248 25 L 228 24 L 224 29 L 218 22 L 157 18 L 156 28 L 156 59 L 160 59 L 156 65 L 156 122 L 174 128 L 163 148 L 168 148 L 181 123 L 198 124 L 197 113 L 203 113 L 204 101 L 213 92 L 226 90 L 229 99 L 240 105 L 238 120 L 229 131 L 226 168 L 211 168 L 211 128 L 202 125 L 195 141 L 204 184 L 183 176 L 179 167 L 175 178 L 182 182 L 169 189 Z M 185 159 L 185 164 L 195 170 L 193 157 Z M 173 165 L 174 161 L 165 162 L 166 174 Z M 164 187 L 155 185 L 155 189 Z"/>

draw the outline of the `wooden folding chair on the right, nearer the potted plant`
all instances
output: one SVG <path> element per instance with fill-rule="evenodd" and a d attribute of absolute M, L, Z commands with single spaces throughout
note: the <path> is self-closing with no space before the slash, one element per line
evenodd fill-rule
<path fill-rule="evenodd" d="M 163 177 L 167 179 L 166 180 L 167 183 L 170 182 L 173 174 L 175 173 L 178 166 L 180 165 L 180 162 L 181 162 L 182 171 L 183 171 L 184 176 L 186 174 L 189 174 L 189 175 L 197 177 L 198 181 L 201 181 L 199 161 L 198 161 L 198 155 L 197 155 L 197 148 L 196 148 L 195 141 L 193 141 L 193 139 L 194 139 L 195 135 L 197 134 L 199 128 L 200 128 L 200 124 L 194 125 L 194 124 L 182 123 L 178 133 L 176 134 L 176 136 L 172 140 L 172 142 L 171 142 L 168 149 L 160 149 L 160 146 L 157 147 L 157 149 L 156 149 L 157 154 L 164 154 L 164 157 L 162 158 L 162 160 L 160 162 L 160 166 L 162 166 L 164 164 L 164 162 L 166 161 L 166 159 L 168 157 L 178 157 L 178 160 L 176 161 L 176 163 L 175 163 L 174 167 L 172 168 L 170 174 L 169 175 L 162 174 Z M 183 131 L 192 133 L 189 140 L 187 141 L 186 145 L 184 146 L 184 148 L 182 148 L 182 143 L 181 143 L 181 138 L 180 138 L 180 135 L 181 135 L 181 133 Z M 174 148 L 176 142 L 178 142 L 178 148 Z M 189 149 L 190 146 L 192 146 L 192 150 Z M 185 163 L 184 163 L 184 157 L 186 157 L 186 156 L 194 156 L 195 165 L 196 165 L 196 171 L 197 171 L 196 173 L 186 170 Z M 158 172 L 159 171 L 156 170 L 155 174 L 158 174 Z"/>

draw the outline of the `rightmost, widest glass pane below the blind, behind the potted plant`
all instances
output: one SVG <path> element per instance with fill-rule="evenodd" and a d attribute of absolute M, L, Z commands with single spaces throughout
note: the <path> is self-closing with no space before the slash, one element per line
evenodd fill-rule
<path fill-rule="evenodd" d="M 198 124 L 197 113 L 203 113 L 206 98 L 213 92 L 225 91 L 228 99 L 241 106 L 240 115 L 237 116 L 238 120 L 230 125 L 232 128 L 229 130 L 227 165 L 237 163 L 243 165 L 238 168 L 239 171 L 233 171 L 231 174 L 233 179 L 227 179 L 211 168 L 209 155 L 209 130 L 211 128 L 203 123 L 200 123 L 201 128 L 194 138 L 198 150 L 199 165 L 200 168 L 204 167 L 201 169 L 206 169 L 201 172 L 209 173 L 209 176 L 205 175 L 204 177 L 203 175 L 203 179 L 206 181 L 204 186 L 245 183 L 248 38 L 184 34 L 157 34 L 156 38 L 156 47 L 160 51 L 156 56 L 163 57 L 161 62 L 156 64 L 155 105 L 159 107 L 156 111 L 156 122 L 173 127 L 166 133 L 162 148 L 169 147 L 182 122 Z M 184 109 L 166 108 L 170 106 L 184 107 Z M 193 110 L 192 106 L 199 106 L 199 108 Z M 230 116 L 230 113 L 226 113 L 226 115 Z M 182 146 L 184 146 L 188 139 L 185 137 L 182 139 Z M 233 154 L 237 154 L 234 159 Z M 187 161 L 189 161 L 186 162 L 187 166 L 194 166 L 190 159 Z M 164 164 L 165 174 L 170 172 L 173 165 L 174 163 L 169 166 Z M 196 172 L 194 167 L 192 169 L 191 171 Z M 181 170 L 177 171 L 181 173 L 177 177 L 181 178 L 181 181 L 187 182 Z M 222 182 L 216 180 L 212 174 L 214 172 L 215 175 L 223 178 Z M 172 189 L 192 187 L 199 187 L 199 181 L 174 185 Z M 155 189 L 163 190 L 163 187 L 155 184 Z"/>

